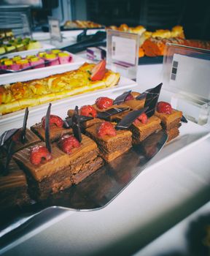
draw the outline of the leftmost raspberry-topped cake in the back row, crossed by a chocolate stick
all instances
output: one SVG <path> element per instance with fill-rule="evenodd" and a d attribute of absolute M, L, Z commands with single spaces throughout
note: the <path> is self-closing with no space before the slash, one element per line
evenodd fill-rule
<path fill-rule="evenodd" d="M 31 127 L 31 131 L 34 132 L 41 140 L 45 141 L 45 117 L 38 124 L 34 124 Z M 63 120 L 59 116 L 50 115 L 50 141 L 54 142 L 59 140 L 63 135 L 71 134 L 72 129 L 65 128 L 63 126 Z"/>

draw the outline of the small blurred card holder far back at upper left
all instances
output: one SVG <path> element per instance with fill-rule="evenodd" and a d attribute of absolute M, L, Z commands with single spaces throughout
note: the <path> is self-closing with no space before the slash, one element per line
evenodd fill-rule
<path fill-rule="evenodd" d="M 51 42 L 62 42 L 60 20 L 48 17 L 49 31 Z"/>

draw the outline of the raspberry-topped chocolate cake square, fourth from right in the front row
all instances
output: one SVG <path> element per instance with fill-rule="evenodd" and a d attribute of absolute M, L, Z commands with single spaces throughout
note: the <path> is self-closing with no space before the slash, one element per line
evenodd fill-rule
<path fill-rule="evenodd" d="M 79 142 L 73 135 L 65 135 L 57 145 L 69 157 L 69 176 L 73 184 L 78 184 L 104 164 L 97 144 L 88 136 L 82 135 Z"/>

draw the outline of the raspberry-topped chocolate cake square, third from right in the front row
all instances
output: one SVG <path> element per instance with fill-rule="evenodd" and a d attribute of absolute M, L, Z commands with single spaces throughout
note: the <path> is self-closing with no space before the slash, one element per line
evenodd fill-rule
<path fill-rule="evenodd" d="M 128 130 L 115 130 L 114 125 L 108 121 L 94 124 L 86 129 L 87 135 L 96 141 L 101 157 L 106 162 L 119 157 L 131 148 L 131 132 Z"/>

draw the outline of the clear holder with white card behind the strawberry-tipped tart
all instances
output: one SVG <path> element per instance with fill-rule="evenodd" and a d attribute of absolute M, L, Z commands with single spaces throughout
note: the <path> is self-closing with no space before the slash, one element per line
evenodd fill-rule
<path fill-rule="evenodd" d="M 114 72 L 136 80 L 139 61 L 139 34 L 123 31 L 107 31 L 108 66 Z"/>

